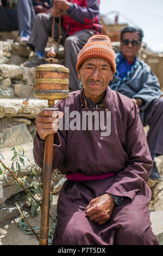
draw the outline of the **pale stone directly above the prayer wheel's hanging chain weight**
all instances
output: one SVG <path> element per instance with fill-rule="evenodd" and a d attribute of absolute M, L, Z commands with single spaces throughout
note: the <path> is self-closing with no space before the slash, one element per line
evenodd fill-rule
<path fill-rule="evenodd" d="M 30 93 L 30 91 L 32 90 L 31 86 L 28 86 L 27 84 L 23 84 L 23 83 L 16 83 L 14 84 L 14 94 L 16 97 L 27 97 Z M 33 98 L 34 96 L 31 95 L 31 98 Z"/>

